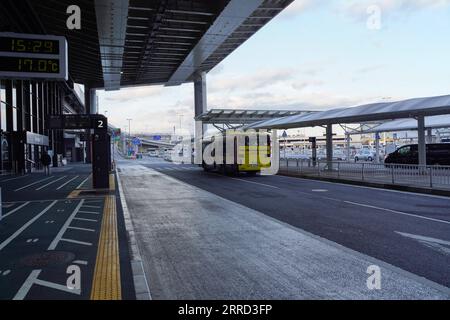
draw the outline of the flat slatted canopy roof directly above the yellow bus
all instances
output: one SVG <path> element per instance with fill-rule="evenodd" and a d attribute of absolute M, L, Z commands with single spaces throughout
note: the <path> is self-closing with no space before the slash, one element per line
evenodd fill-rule
<path fill-rule="evenodd" d="M 251 124 L 305 113 L 308 111 L 212 109 L 195 120 L 203 124 Z"/>

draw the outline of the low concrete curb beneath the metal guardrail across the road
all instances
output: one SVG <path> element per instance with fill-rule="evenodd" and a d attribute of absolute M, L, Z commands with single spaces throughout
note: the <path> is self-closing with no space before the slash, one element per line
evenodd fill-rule
<path fill-rule="evenodd" d="M 330 178 L 330 177 L 316 177 L 316 176 L 308 176 L 308 175 L 284 173 L 284 172 L 282 172 L 282 173 L 278 172 L 278 175 L 285 176 L 285 177 L 292 177 L 292 178 L 336 182 L 336 183 L 349 184 L 349 185 L 355 185 L 355 186 L 365 186 L 365 187 L 372 187 L 372 188 L 378 188 L 378 189 L 390 189 L 390 190 L 396 190 L 396 191 L 405 191 L 405 192 L 421 193 L 421 194 L 428 194 L 428 195 L 434 195 L 434 196 L 450 197 L 450 190 L 447 191 L 447 190 L 439 190 L 439 189 L 401 186 L 401 185 L 394 185 L 394 184 L 358 181 L 358 180 L 350 180 L 350 179 L 338 179 L 338 178 Z"/>

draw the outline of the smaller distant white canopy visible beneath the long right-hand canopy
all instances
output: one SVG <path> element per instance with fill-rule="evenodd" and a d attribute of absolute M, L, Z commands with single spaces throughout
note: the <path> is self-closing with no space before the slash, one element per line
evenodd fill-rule
<path fill-rule="evenodd" d="M 450 128 L 450 115 L 425 117 L 426 129 Z M 415 119 L 398 119 L 382 123 L 361 133 L 376 132 L 396 132 L 396 131 L 413 131 L 418 130 L 417 121 Z"/>

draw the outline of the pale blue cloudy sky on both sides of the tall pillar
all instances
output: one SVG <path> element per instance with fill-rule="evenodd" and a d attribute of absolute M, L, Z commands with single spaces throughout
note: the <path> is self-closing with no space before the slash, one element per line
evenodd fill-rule
<path fill-rule="evenodd" d="M 449 34 L 450 0 L 296 0 L 208 74 L 208 107 L 323 110 L 450 94 Z M 118 127 L 132 118 L 134 132 L 193 128 L 192 84 L 99 92 L 99 104 Z"/>

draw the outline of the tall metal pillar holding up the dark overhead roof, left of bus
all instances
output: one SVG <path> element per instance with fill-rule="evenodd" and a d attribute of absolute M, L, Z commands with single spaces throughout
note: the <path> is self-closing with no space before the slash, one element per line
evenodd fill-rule
<path fill-rule="evenodd" d="M 195 116 L 199 116 L 208 111 L 206 73 L 197 73 L 194 78 L 194 96 L 195 96 Z M 202 164 L 201 154 L 203 135 L 206 132 L 206 126 L 202 122 L 195 122 L 195 159 L 196 164 Z"/>

